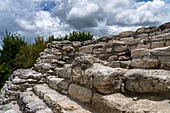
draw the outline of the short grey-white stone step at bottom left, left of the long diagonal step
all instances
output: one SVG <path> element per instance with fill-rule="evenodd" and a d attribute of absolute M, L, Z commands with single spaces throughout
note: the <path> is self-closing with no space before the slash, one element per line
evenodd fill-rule
<path fill-rule="evenodd" d="M 18 96 L 18 105 L 22 113 L 53 113 L 50 108 L 33 92 L 23 92 Z"/>

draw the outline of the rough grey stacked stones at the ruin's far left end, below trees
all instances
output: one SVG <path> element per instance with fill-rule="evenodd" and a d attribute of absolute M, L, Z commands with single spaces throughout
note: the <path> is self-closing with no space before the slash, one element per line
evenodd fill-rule
<path fill-rule="evenodd" d="M 18 69 L 13 72 L 1 90 L 1 104 L 16 100 L 18 95 L 36 84 L 44 83 L 45 77 L 31 69 Z"/>

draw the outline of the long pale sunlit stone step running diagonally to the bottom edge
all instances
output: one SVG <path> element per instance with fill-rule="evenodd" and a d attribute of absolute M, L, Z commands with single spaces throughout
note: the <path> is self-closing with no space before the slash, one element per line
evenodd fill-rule
<path fill-rule="evenodd" d="M 77 102 L 69 96 L 58 93 L 47 85 L 36 85 L 33 91 L 52 108 L 54 113 L 97 113 L 92 108 Z"/>

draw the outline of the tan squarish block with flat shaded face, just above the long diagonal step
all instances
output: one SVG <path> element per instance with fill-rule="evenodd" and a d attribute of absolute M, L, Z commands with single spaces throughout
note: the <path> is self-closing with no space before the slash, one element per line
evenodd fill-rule
<path fill-rule="evenodd" d="M 69 95 L 73 98 L 79 100 L 82 103 L 91 103 L 92 100 L 92 91 L 88 88 L 71 84 L 69 86 Z"/>

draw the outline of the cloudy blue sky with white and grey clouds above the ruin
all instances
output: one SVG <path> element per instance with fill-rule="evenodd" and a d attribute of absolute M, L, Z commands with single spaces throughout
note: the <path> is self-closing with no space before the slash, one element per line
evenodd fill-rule
<path fill-rule="evenodd" d="M 170 0 L 0 0 L 0 32 L 62 37 L 76 31 L 101 37 L 170 21 Z"/>

